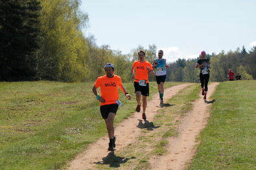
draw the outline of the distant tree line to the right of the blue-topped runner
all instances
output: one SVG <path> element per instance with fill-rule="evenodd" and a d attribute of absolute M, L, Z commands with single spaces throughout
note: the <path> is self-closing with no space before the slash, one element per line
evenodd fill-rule
<path fill-rule="evenodd" d="M 167 81 L 184 81 L 191 83 L 200 82 L 200 70 L 195 69 L 195 65 L 201 56 L 194 59 L 178 59 L 170 63 L 167 69 Z M 256 78 L 256 47 L 246 52 L 246 48 L 237 48 L 234 52 L 231 50 L 225 54 L 224 50 L 219 54 L 207 54 L 210 59 L 210 80 L 209 81 L 227 81 L 229 69 L 236 75 L 239 72 L 242 80 L 254 80 Z"/>

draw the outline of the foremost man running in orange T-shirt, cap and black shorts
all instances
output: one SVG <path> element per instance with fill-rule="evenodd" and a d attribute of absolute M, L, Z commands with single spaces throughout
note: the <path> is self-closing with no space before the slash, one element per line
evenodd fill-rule
<path fill-rule="evenodd" d="M 108 129 L 108 136 L 110 138 L 110 143 L 108 143 L 108 151 L 114 151 L 115 140 L 117 138 L 114 136 L 115 129 L 113 127 L 113 122 L 119 105 L 122 105 L 122 103 L 119 101 L 118 87 L 122 90 L 122 92 L 124 92 L 128 100 L 131 100 L 131 96 L 124 89 L 121 78 L 114 75 L 115 68 L 113 64 L 106 63 L 104 70 L 106 72 L 106 75 L 100 76 L 97 79 L 96 83 L 93 86 L 93 93 L 95 94 L 95 96 L 97 96 L 97 100 L 100 101 L 100 112 L 102 118 L 104 118 L 106 122 L 106 126 Z M 97 88 L 99 87 L 101 96 L 98 94 L 97 91 Z"/>

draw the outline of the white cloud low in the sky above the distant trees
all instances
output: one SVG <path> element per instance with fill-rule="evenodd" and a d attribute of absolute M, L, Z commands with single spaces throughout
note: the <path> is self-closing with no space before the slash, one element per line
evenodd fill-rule
<path fill-rule="evenodd" d="M 199 54 L 186 54 L 185 52 L 181 51 L 178 47 L 159 48 L 158 50 L 163 50 L 163 58 L 167 59 L 167 63 L 172 63 L 179 58 L 180 59 L 197 58 L 199 55 Z"/>

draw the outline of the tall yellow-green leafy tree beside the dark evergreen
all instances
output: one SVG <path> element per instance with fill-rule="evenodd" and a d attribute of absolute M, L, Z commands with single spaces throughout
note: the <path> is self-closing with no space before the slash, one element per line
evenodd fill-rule
<path fill-rule="evenodd" d="M 81 82 L 88 77 L 89 49 L 82 35 L 87 14 L 79 10 L 80 1 L 41 0 L 40 28 L 43 39 L 37 59 L 38 77 L 47 80 Z"/>

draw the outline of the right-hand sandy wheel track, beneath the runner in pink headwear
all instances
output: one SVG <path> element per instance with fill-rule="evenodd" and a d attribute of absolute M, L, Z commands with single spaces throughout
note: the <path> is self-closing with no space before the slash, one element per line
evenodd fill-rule
<path fill-rule="evenodd" d="M 213 94 L 217 85 L 218 83 L 208 85 L 210 91 L 207 98 Z M 200 98 L 193 103 L 194 109 L 180 118 L 178 137 L 169 138 L 168 152 L 170 154 L 150 160 L 153 169 L 184 169 L 185 164 L 189 163 L 196 154 L 196 145 L 200 143 L 199 141 L 196 142 L 196 137 L 207 125 L 210 116 L 208 107 L 214 101 L 203 100 L 202 94 L 199 95 Z"/>

